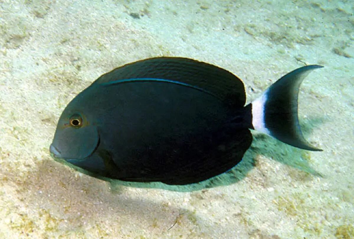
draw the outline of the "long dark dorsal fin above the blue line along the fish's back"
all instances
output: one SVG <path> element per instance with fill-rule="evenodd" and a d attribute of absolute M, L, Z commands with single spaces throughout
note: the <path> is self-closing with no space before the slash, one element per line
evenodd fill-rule
<path fill-rule="evenodd" d="M 242 81 L 231 72 L 204 62 L 180 57 L 156 57 L 116 68 L 100 76 L 93 84 L 134 78 L 177 81 L 205 89 L 232 107 L 246 102 Z"/>

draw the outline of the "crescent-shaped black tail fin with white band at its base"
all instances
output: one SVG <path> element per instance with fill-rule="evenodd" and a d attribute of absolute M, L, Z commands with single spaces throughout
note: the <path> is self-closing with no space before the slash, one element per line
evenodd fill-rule
<path fill-rule="evenodd" d="M 310 71 L 322 67 L 303 66 L 272 84 L 261 97 L 252 102 L 253 128 L 286 144 L 306 150 L 322 151 L 304 139 L 297 115 L 301 82 Z"/>

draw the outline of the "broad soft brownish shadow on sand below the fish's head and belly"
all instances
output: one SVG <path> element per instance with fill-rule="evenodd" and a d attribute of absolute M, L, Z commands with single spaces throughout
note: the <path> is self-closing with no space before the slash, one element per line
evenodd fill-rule
<path fill-rule="evenodd" d="M 16 173 L 8 173 L 7 178 L 15 179 Z M 136 188 L 112 193 L 107 182 L 76 173 L 52 159 L 38 162 L 36 169 L 28 172 L 18 186 L 18 198 L 26 202 L 29 211 L 50 220 L 53 232 L 78 232 L 84 230 L 85 225 L 104 231 L 100 225 L 107 218 L 117 223 L 116 228 L 130 221 L 155 234 L 166 233 L 177 220 L 177 227 L 204 224 L 204 219 L 195 212 L 172 206 L 163 201 L 164 197 L 155 202 L 146 190 Z M 170 194 L 170 199 L 181 198 L 181 194 Z"/>

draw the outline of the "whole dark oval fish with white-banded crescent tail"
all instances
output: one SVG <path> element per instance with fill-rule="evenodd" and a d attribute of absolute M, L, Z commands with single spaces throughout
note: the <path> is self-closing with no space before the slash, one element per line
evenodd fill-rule
<path fill-rule="evenodd" d="M 245 105 L 244 83 L 218 66 L 181 57 L 129 63 L 70 101 L 50 153 L 101 179 L 188 185 L 241 162 L 251 130 L 321 151 L 301 132 L 298 93 L 322 67 L 293 70 Z"/>

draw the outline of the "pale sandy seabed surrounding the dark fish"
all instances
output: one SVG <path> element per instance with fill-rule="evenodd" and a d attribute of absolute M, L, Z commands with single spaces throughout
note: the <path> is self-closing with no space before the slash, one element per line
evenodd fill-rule
<path fill-rule="evenodd" d="M 354 238 L 352 3 L 0 0 L 0 238 Z M 221 66 L 248 101 L 304 63 L 324 65 L 299 95 L 306 138 L 324 151 L 293 156 L 322 176 L 259 153 L 230 185 L 112 191 L 53 161 L 65 105 L 155 56 Z"/>

